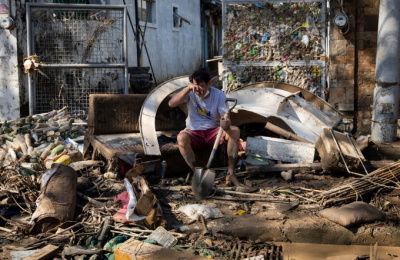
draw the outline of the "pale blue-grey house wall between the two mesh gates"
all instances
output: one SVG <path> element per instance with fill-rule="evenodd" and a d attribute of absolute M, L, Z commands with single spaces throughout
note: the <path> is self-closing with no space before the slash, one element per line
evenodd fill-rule
<path fill-rule="evenodd" d="M 135 23 L 133 1 L 126 1 L 128 12 Z M 115 0 L 111 4 L 121 4 Z M 178 14 L 190 21 L 182 27 L 173 29 L 173 6 L 178 7 Z M 201 28 L 200 0 L 157 0 L 156 24 L 148 25 L 145 34 L 147 50 L 155 72 L 157 83 L 181 75 L 191 74 L 201 66 Z M 144 30 L 144 27 L 142 27 Z M 136 67 L 136 43 L 128 21 L 129 66 Z M 143 48 L 143 66 L 149 66 Z"/>

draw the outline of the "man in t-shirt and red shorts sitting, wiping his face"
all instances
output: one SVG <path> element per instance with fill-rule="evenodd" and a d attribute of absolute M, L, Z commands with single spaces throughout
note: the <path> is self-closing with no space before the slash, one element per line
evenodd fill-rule
<path fill-rule="evenodd" d="M 219 127 L 224 130 L 220 144 L 227 143 L 228 171 L 226 181 L 235 186 L 240 183 L 234 170 L 239 148 L 240 129 L 231 125 L 229 117 L 224 120 L 225 93 L 211 86 L 208 72 L 199 70 L 189 78 L 191 84 L 175 94 L 168 105 L 177 107 L 186 102 L 188 116 L 186 128 L 177 137 L 179 151 L 189 167 L 194 171 L 196 158 L 193 149 L 212 147 Z"/>

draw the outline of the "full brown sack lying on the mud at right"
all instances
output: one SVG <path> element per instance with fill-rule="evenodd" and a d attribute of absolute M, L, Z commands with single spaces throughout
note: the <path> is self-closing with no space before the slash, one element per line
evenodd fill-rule
<path fill-rule="evenodd" d="M 385 219 L 380 210 L 362 201 L 352 202 L 340 208 L 323 209 L 318 214 L 344 227 Z"/>

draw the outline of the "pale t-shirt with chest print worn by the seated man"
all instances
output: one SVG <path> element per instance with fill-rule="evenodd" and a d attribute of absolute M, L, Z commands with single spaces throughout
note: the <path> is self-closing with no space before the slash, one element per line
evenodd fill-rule
<path fill-rule="evenodd" d="M 220 114 L 226 111 L 225 99 L 225 93 L 214 87 L 210 88 L 210 94 L 205 98 L 199 97 L 193 91 L 189 92 L 186 96 L 186 129 L 206 130 L 218 127 Z"/>

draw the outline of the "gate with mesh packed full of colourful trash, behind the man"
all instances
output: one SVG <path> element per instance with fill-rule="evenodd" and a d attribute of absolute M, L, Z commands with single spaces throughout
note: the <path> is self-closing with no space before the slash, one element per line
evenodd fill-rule
<path fill-rule="evenodd" d="M 324 97 L 326 3 L 223 0 L 225 87 L 285 82 Z"/>

